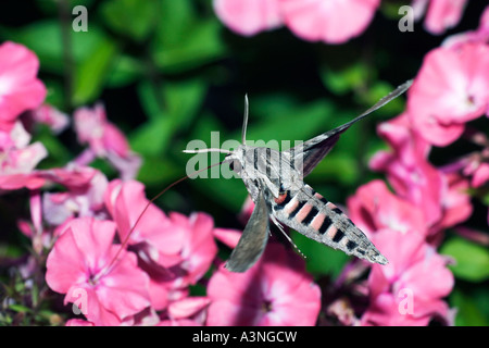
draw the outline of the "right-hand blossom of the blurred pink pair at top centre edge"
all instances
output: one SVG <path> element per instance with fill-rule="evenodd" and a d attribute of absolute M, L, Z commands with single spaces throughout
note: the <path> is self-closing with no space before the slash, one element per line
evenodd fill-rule
<path fill-rule="evenodd" d="M 281 0 L 284 22 L 309 41 L 342 44 L 362 34 L 379 0 Z"/>

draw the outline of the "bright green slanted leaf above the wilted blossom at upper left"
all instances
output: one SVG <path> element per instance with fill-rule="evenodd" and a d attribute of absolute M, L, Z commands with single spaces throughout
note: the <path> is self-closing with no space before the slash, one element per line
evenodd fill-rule
<path fill-rule="evenodd" d="M 91 55 L 79 64 L 73 86 L 72 102 L 75 105 L 91 102 L 99 97 L 117 51 L 117 45 L 105 38 L 95 48 Z"/>

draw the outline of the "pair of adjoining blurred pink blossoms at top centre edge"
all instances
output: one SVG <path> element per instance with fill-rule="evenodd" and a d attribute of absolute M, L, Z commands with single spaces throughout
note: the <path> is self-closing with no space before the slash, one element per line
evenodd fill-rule
<path fill-rule="evenodd" d="M 342 44 L 362 34 L 380 0 L 214 0 L 230 29 L 251 36 L 283 24 L 309 41 Z"/>

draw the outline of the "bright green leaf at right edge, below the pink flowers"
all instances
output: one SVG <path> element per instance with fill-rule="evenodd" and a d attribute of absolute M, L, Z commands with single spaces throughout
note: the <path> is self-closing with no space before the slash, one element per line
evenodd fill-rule
<path fill-rule="evenodd" d="M 440 253 L 455 259 L 455 264 L 450 265 L 450 269 L 456 277 L 471 282 L 482 282 L 489 278 L 489 250 L 487 248 L 455 237 L 441 247 Z"/>

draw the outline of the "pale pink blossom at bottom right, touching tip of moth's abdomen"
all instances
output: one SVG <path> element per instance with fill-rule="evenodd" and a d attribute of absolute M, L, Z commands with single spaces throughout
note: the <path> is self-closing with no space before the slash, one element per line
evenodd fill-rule
<path fill-rule="evenodd" d="M 450 312 L 442 298 L 452 290 L 454 279 L 447 260 L 416 233 L 383 229 L 374 243 L 389 264 L 372 268 L 371 303 L 362 324 L 427 325 L 436 316 L 448 321 Z"/>

